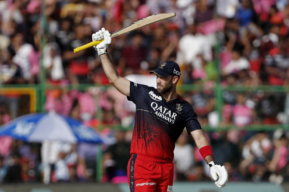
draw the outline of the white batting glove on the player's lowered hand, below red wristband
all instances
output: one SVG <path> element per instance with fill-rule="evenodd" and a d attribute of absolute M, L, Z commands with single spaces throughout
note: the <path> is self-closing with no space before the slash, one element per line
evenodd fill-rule
<path fill-rule="evenodd" d="M 217 187 L 222 188 L 228 182 L 228 172 L 224 165 L 217 165 L 215 161 L 208 163 L 212 178 L 216 181 Z"/>

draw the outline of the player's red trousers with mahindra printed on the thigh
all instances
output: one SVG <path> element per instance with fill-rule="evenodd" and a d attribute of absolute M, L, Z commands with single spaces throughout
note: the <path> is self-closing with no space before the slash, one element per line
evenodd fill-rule
<path fill-rule="evenodd" d="M 172 192 L 174 164 L 133 154 L 127 168 L 130 192 Z"/>

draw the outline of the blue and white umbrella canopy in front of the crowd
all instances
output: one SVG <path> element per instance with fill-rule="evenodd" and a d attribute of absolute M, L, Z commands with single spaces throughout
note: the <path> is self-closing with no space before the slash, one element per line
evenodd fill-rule
<path fill-rule="evenodd" d="M 0 135 L 9 135 L 26 142 L 57 140 L 69 143 L 102 143 L 92 128 L 56 113 L 33 113 L 18 117 L 2 125 Z"/>

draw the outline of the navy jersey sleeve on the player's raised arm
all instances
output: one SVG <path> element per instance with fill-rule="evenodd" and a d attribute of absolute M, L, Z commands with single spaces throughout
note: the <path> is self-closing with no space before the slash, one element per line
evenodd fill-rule
<path fill-rule="evenodd" d="M 148 85 L 142 85 L 131 81 L 129 85 L 129 97 L 127 97 L 127 100 L 136 103 L 144 93 L 148 91 L 148 89 Z"/>

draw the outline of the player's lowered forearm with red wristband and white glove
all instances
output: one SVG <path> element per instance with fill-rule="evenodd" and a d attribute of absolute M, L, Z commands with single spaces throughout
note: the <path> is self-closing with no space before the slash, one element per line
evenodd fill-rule
<path fill-rule="evenodd" d="M 191 131 L 191 135 L 196 142 L 200 154 L 207 162 L 208 167 L 210 167 L 210 173 L 212 178 L 215 180 L 216 186 L 219 188 L 224 187 L 228 182 L 228 172 L 224 165 L 218 165 L 214 161 L 213 151 L 209 140 L 201 129 Z"/>

